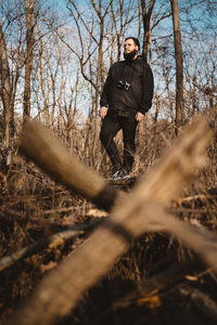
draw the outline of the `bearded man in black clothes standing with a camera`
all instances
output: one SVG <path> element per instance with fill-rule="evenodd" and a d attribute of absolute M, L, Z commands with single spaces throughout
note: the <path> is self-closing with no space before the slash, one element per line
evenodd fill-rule
<path fill-rule="evenodd" d="M 100 100 L 100 140 L 113 165 L 110 180 L 124 179 L 131 172 L 136 129 L 152 106 L 153 74 L 144 57 L 138 55 L 139 50 L 137 38 L 125 39 L 125 61 L 111 66 Z M 119 130 L 124 135 L 123 161 L 113 140 Z"/>

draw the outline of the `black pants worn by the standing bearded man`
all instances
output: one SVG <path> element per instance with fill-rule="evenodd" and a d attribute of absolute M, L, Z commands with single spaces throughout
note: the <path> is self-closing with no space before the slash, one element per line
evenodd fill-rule
<path fill-rule="evenodd" d="M 135 116 L 119 116 L 117 112 L 107 112 L 103 119 L 100 140 L 114 168 L 125 168 L 131 171 L 135 161 L 135 135 L 138 122 Z M 119 130 L 124 136 L 124 159 L 122 162 L 118 148 L 113 140 Z"/>

